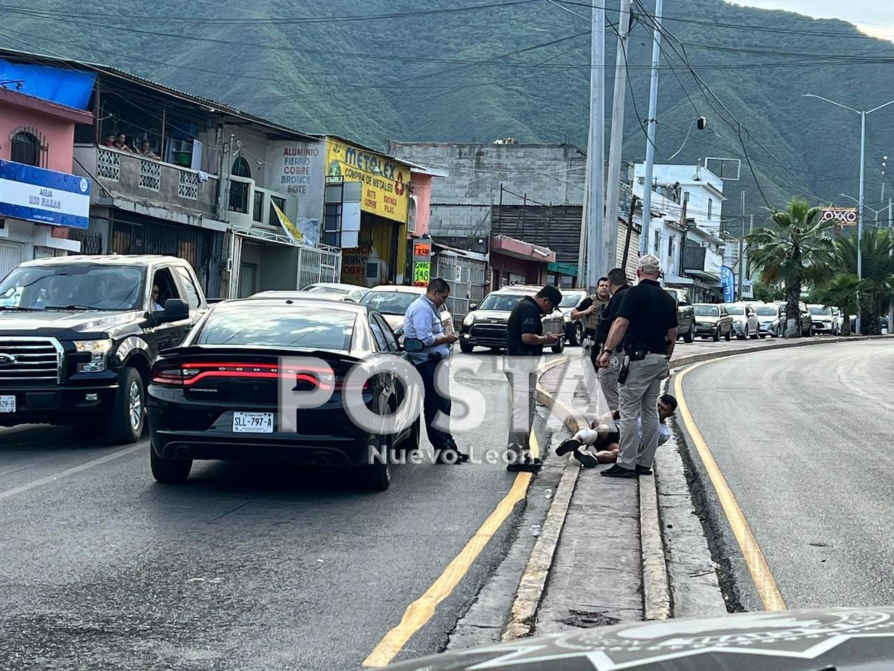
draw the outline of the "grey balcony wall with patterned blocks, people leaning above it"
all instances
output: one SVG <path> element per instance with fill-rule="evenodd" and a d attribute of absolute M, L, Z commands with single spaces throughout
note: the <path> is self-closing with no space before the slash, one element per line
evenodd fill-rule
<path fill-rule="evenodd" d="M 131 200 L 192 214 L 198 210 L 203 218 L 222 218 L 216 214 L 217 176 L 214 174 L 92 144 L 75 145 L 74 157 L 74 173 L 98 182 L 92 194 L 97 204 Z"/>

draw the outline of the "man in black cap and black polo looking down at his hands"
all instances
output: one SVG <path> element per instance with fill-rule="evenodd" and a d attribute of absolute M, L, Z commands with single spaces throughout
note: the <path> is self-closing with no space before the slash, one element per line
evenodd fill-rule
<path fill-rule="evenodd" d="M 539 471 L 540 459 L 530 454 L 531 428 L 536 412 L 537 364 L 544 353 L 544 345 L 559 342 L 560 335 L 544 334 L 543 316 L 561 303 L 561 292 L 546 285 L 534 296 L 525 296 L 512 308 L 506 327 L 506 361 L 504 371 L 509 380 L 510 428 L 507 451 L 515 454 L 515 461 L 507 471 Z M 518 388 L 517 388 L 518 386 Z M 516 394 L 526 395 L 527 403 Z"/>

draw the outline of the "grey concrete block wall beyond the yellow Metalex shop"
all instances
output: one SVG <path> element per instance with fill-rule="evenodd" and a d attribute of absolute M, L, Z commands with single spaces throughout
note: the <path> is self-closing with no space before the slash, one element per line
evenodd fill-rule
<path fill-rule="evenodd" d="M 583 203 L 586 154 L 570 145 L 392 141 L 386 152 L 450 171 L 434 181 L 434 204 L 497 204 L 501 183 L 546 205 Z M 503 191 L 504 204 L 520 202 Z"/>

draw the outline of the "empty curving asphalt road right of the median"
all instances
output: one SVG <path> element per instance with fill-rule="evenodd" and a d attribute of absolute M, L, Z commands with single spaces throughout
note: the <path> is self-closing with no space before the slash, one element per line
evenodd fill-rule
<path fill-rule="evenodd" d="M 894 346 L 866 341 L 753 352 L 683 380 L 789 608 L 894 604 L 892 373 Z M 712 513 L 725 523 L 719 507 Z M 715 541 L 742 606 L 760 609 L 729 530 Z"/>

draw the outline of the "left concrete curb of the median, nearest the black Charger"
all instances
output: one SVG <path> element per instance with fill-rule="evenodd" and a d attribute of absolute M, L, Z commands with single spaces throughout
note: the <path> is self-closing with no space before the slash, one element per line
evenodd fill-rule
<path fill-rule="evenodd" d="M 567 357 L 550 361 L 538 371 L 537 403 L 561 413 L 565 427 L 577 432 L 578 426 L 586 424 L 583 417 L 580 417 L 566 403 L 562 403 L 552 397 L 544 386 L 540 384 L 540 378 L 548 370 L 560 366 L 566 361 L 568 361 Z M 525 565 L 525 571 L 521 575 L 521 580 L 519 580 L 519 588 L 516 590 L 515 599 L 512 601 L 509 621 L 503 627 L 500 637 L 501 641 L 511 641 L 530 636 L 534 631 L 537 607 L 540 606 L 540 601 L 544 596 L 546 579 L 549 577 L 550 568 L 552 567 L 552 557 L 555 556 L 556 548 L 559 546 L 559 537 L 565 525 L 565 515 L 568 514 L 568 506 L 571 503 L 574 488 L 578 483 L 579 473 L 580 464 L 569 459 L 565 464 L 564 471 L 562 471 L 555 496 L 552 497 L 552 503 L 546 513 L 540 536 L 537 538 L 534 549 L 531 551 L 531 556 L 528 557 Z"/>

